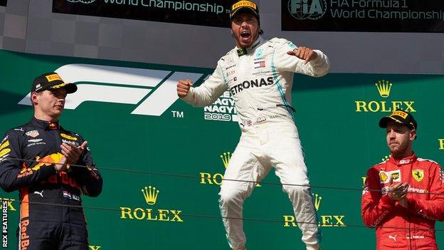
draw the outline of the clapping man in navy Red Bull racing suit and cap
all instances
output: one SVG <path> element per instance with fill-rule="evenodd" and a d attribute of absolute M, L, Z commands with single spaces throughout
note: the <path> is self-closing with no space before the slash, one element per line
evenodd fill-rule
<path fill-rule="evenodd" d="M 66 95 L 76 90 L 57 73 L 38 76 L 31 87 L 33 118 L 1 141 L 0 187 L 18 190 L 21 200 L 18 249 L 88 249 L 81 194 L 97 197 L 102 177 L 88 142 L 58 123 Z"/>

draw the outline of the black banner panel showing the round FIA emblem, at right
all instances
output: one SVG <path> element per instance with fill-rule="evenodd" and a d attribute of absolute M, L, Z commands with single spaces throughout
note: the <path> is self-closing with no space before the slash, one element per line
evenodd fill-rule
<path fill-rule="evenodd" d="M 444 31 L 444 1 L 282 0 L 282 31 Z"/>

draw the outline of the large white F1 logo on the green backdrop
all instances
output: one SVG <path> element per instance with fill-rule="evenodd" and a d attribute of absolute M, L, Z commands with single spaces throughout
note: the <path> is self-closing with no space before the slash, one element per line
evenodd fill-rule
<path fill-rule="evenodd" d="M 179 98 L 176 94 L 178 80 L 189 78 L 196 82 L 203 76 L 201 73 L 93 64 L 68 64 L 55 72 L 65 82 L 79 83 L 77 92 L 67 96 L 66 109 L 74 110 L 86 101 L 125 103 L 137 105 L 132 110 L 134 115 L 154 116 L 162 115 Z M 18 104 L 31 105 L 30 97 L 28 93 Z"/>

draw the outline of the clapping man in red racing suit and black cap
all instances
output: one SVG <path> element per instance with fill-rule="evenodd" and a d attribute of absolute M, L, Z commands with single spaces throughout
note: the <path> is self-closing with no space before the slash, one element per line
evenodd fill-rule
<path fill-rule="evenodd" d="M 412 151 L 418 125 L 410 113 L 396 110 L 379 125 L 386 127 L 391 155 L 367 172 L 364 224 L 376 227 L 376 249 L 438 249 L 435 221 L 444 220 L 443 170 Z"/>

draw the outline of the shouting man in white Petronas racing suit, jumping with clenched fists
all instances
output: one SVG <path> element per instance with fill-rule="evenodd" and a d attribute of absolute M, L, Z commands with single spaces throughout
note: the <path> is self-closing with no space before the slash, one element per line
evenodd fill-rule
<path fill-rule="evenodd" d="M 228 243 L 232 249 L 245 249 L 243 202 L 273 166 L 292 202 L 302 241 L 307 250 L 317 250 L 317 215 L 293 120 L 291 89 L 294 73 L 327 74 L 328 58 L 322 51 L 298 48 L 282 38 L 265 40 L 260 36 L 258 6 L 252 1 L 233 4 L 231 31 L 236 48 L 218 61 L 202 85 L 193 88 L 188 79 L 177 83 L 177 94 L 191 105 L 210 105 L 227 89 L 236 103 L 242 135 L 219 193 Z"/>

